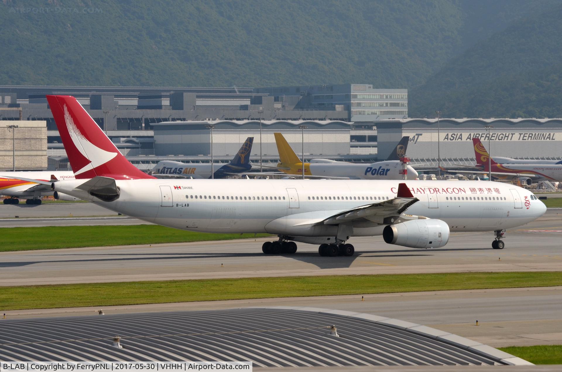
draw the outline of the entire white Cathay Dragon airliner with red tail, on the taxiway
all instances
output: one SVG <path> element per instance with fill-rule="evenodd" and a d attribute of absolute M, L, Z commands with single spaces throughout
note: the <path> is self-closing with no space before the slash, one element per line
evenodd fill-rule
<path fill-rule="evenodd" d="M 42 182 L 109 210 L 183 230 L 270 233 L 264 253 L 320 244 L 323 256 L 352 256 L 346 241 L 383 235 L 411 248 L 445 246 L 450 231 L 495 231 L 542 216 L 531 192 L 487 181 L 155 179 L 121 155 L 74 97 L 47 96 L 75 180 Z"/>

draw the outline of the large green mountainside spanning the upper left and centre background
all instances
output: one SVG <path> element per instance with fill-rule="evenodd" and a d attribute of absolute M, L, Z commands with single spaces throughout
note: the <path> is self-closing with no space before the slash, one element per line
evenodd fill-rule
<path fill-rule="evenodd" d="M 551 1 L 0 2 L 0 84 L 423 84 Z"/>

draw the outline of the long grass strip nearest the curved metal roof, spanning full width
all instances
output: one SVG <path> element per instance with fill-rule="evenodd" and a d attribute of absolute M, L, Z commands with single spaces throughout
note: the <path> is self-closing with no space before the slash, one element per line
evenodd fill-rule
<path fill-rule="evenodd" d="M 562 272 L 288 276 L 0 287 L 0 310 L 562 285 Z"/>

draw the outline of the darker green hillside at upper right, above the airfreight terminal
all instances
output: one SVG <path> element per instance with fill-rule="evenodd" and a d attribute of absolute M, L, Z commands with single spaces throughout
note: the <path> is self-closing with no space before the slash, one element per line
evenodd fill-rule
<path fill-rule="evenodd" d="M 562 116 L 562 5 L 514 22 L 410 91 L 410 116 Z"/>

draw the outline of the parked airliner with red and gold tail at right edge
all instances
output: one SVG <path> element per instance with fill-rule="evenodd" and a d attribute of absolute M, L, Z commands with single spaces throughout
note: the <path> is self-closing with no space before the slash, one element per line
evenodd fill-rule
<path fill-rule="evenodd" d="M 533 182 L 562 181 L 562 164 L 499 164 L 494 158 L 490 161 L 490 154 L 479 138 L 473 138 L 476 166 L 482 171 L 453 171 L 454 173 L 489 173 L 492 166 L 492 176 L 500 179 L 518 179 L 521 184 L 531 185 Z"/>

